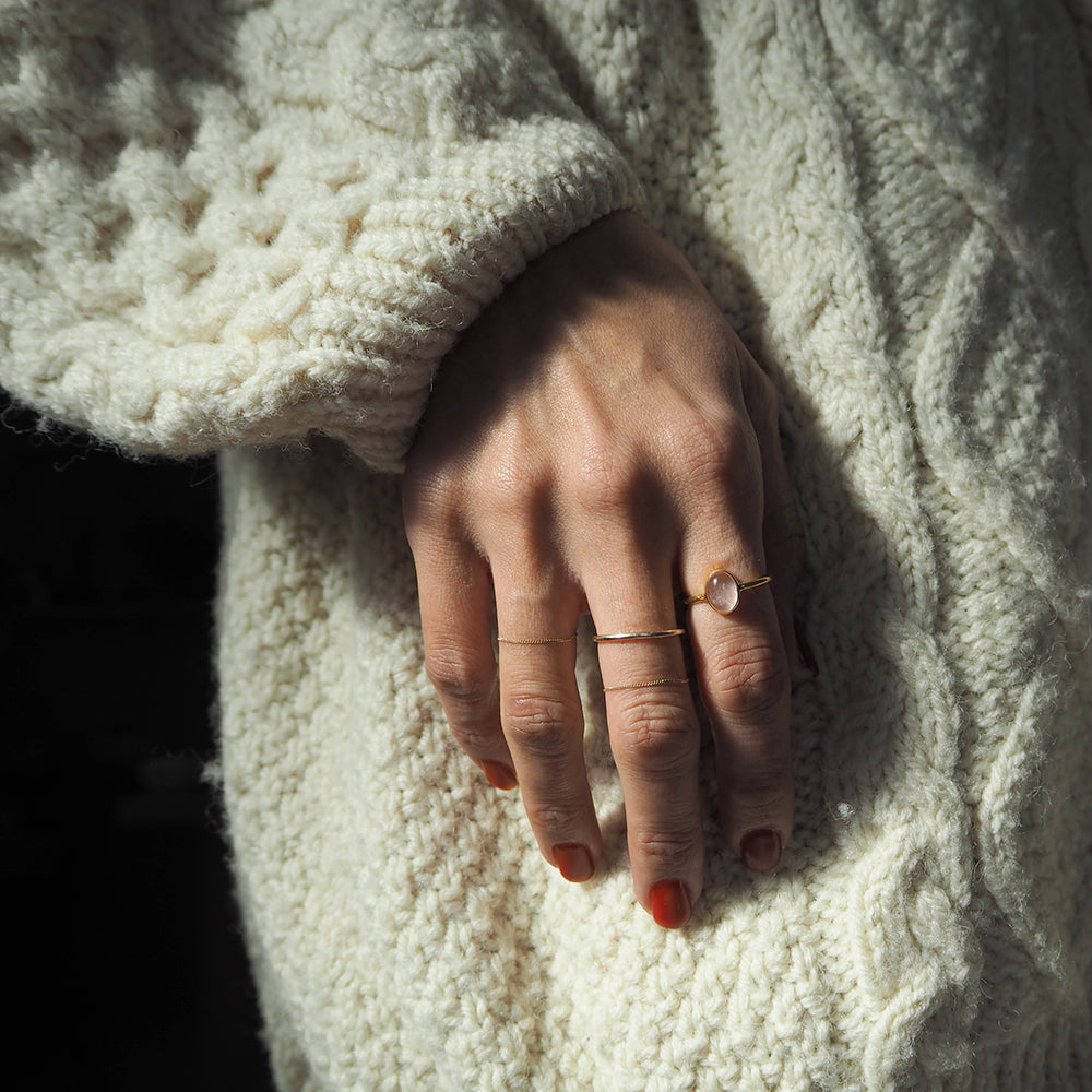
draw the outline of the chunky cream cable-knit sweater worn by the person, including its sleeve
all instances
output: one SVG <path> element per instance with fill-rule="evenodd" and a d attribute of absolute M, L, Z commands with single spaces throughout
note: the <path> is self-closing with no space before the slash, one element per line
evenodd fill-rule
<path fill-rule="evenodd" d="M 223 791 L 280 1087 L 1092 1089 L 1082 0 L 7 0 L 4 385 L 219 450 Z M 1083 60 L 1082 60 L 1083 57 Z M 640 206 L 785 401 L 798 821 L 570 886 L 422 670 L 397 478 L 529 260 Z"/>

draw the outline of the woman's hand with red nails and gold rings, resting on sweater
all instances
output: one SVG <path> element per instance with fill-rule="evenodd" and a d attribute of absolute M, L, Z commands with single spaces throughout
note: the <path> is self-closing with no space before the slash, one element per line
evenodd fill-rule
<path fill-rule="evenodd" d="M 751 867 L 778 863 L 793 823 L 796 508 L 773 388 L 678 251 L 620 213 L 531 265 L 444 361 L 403 496 L 451 729 L 495 785 L 519 782 L 543 855 L 572 880 L 603 852 L 580 615 L 601 634 L 669 630 L 677 595 L 711 570 L 770 574 L 729 616 L 700 602 L 688 617 L 725 836 Z M 682 640 L 597 645 L 634 890 L 665 926 L 702 886 Z"/>

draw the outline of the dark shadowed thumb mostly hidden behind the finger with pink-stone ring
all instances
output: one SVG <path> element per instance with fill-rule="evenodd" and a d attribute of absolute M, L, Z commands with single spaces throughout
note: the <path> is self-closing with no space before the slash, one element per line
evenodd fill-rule
<path fill-rule="evenodd" d="M 796 585 L 804 566 L 804 526 L 785 466 L 778 426 L 779 399 L 769 377 L 740 344 L 743 394 L 762 473 L 762 546 L 774 580 L 770 585 L 781 640 L 794 684 L 816 676 L 815 660 L 796 619 Z"/>

